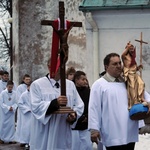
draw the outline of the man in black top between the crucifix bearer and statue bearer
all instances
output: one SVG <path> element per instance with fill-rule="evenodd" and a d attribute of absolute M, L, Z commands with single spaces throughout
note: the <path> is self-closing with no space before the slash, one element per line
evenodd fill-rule
<path fill-rule="evenodd" d="M 72 150 L 92 150 L 90 132 L 87 130 L 90 88 L 87 86 L 86 74 L 83 71 L 76 71 L 76 73 L 74 74 L 74 83 L 84 103 L 84 112 L 82 116 L 78 119 L 75 128 L 72 129 Z"/>

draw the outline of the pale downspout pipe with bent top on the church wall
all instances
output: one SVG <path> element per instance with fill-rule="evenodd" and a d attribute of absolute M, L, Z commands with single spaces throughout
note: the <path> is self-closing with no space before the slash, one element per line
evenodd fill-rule
<path fill-rule="evenodd" d="M 92 27 L 93 32 L 93 82 L 99 78 L 99 29 L 91 12 L 85 14 L 87 22 Z"/>

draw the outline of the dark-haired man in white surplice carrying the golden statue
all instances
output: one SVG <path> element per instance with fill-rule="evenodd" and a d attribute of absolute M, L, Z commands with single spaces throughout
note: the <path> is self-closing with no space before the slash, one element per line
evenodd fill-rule
<path fill-rule="evenodd" d="M 94 82 L 89 101 L 89 130 L 93 142 L 107 150 L 134 150 L 138 141 L 138 121 L 129 118 L 126 85 L 121 77 L 120 56 L 110 53 L 104 58 L 106 74 Z M 145 92 L 145 99 L 150 95 Z"/>

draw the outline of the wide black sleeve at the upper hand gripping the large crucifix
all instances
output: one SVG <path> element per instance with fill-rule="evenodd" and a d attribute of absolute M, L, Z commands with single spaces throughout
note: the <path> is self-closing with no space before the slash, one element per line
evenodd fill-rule
<path fill-rule="evenodd" d="M 53 113 L 54 111 L 59 109 L 59 104 L 57 102 L 57 99 L 54 99 L 51 101 L 47 111 L 46 111 L 46 115 L 50 115 L 51 113 Z"/>

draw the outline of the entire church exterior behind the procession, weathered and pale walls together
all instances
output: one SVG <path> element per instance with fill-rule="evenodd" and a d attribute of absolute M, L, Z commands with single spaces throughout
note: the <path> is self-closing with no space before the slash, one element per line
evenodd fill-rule
<path fill-rule="evenodd" d="M 52 27 L 41 20 L 58 18 L 59 0 L 13 1 L 13 77 L 19 84 L 24 74 L 35 80 L 47 74 L 47 59 L 51 55 Z M 110 52 L 121 54 L 127 42 L 137 49 L 140 60 L 141 32 L 143 79 L 150 92 L 150 6 L 149 0 L 65 0 L 65 19 L 82 22 L 71 29 L 68 37 L 69 58 L 66 68 L 83 70 L 90 85 L 104 70 L 103 58 Z"/>

